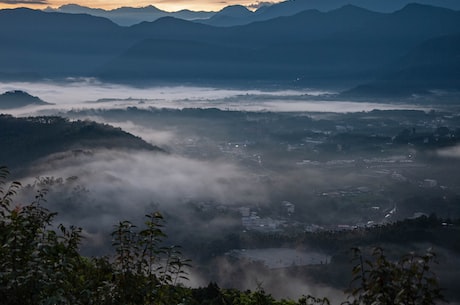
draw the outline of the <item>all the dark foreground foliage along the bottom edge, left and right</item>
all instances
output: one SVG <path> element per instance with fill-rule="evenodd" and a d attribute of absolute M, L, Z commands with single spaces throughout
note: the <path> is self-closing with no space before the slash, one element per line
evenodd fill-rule
<path fill-rule="evenodd" d="M 155 304 L 155 305 L 328 305 L 327 298 L 305 296 L 275 300 L 256 291 L 222 289 L 210 283 L 191 289 L 190 261 L 177 246 L 165 246 L 164 219 L 146 215 L 138 228 L 121 221 L 112 232 L 112 257 L 79 254 L 82 229 L 55 226 L 56 213 L 44 206 L 44 191 L 27 205 L 13 202 L 20 183 L 5 184 L 8 170 L 0 167 L 0 300 L 5 305 L 28 304 Z M 382 249 L 366 259 L 354 249 L 357 262 L 348 299 L 343 304 L 435 304 L 442 300 L 430 271 L 435 256 L 410 254 L 392 262 Z"/>

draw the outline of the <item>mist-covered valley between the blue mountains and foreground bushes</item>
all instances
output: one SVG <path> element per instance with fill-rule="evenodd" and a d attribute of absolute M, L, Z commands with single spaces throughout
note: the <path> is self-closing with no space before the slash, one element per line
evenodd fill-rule
<path fill-rule="evenodd" d="M 308 89 L 93 82 L 0 87 L 52 102 L 3 110 L 15 117 L 0 120 L 2 160 L 25 186 L 21 200 L 46 189 L 46 206 L 58 212 L 58 221 L 84 228 L 82 251 L 88 255 L 110 251 L 110 229 L 120 219 L 140 222 L 159 210 L 170 242 L 195 262 L 193 285 L 215 280 L 255 289 L 263 281 L 272 292 L 273 281 L 283 276 L 311 291 L 334 283 L 340 299 L 345 275 L 331 282 L 310 266 L 346 255 L 348 242 L 318 243 L 314 236 L 460 215 L 459 116 L 451 104 L 330 101 L 332 92 Z M 304 234 L 312 240 L 299 248 Z M 428 236 L 398 247 L 427 247 L 433 242 Z M 290 267 L 281 275 L 266 269 L 263 256 L 245 265 L 244 256 L 229 254 L 251 248 L 275 251 L 268 254 L 273 259 L 288 253 L 282 249 L 297 249 L 305 258 L 293 264 L 310 271 L 300 275 Z M 457 251 L 448 242 L 438 249 Z M 280 256 L 280 263 L 283 257 L 289 259 Z M 229 260 L 233 271 L 225 267 Z M 240 264 L 245 267 L 236 268 Z M 305 293 L 291 288 L 273 293 Z"/>

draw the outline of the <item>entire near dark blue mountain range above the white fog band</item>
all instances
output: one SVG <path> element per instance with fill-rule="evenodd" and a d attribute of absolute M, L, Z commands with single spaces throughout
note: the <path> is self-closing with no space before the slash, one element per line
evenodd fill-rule
<path fill-rule="evenodd" d="M 347 5 L 228 27 L 1 10 L 0 79 L 458 89 L 459 33 L 460 12 L 421 4 L 393 13 Z"/>

